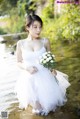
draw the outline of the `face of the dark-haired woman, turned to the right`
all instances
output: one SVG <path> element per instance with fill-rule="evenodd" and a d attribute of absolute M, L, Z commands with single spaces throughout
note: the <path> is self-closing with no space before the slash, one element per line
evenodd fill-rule
<path fill-rule="evenodd" d="M 40 22 L 34 21 L 30 27 L 28 27 L 29 34 L 32 36 L 32 38 L 37 39 L 40 37 L 40 33 L 42 30 L 42 26 Z"/>

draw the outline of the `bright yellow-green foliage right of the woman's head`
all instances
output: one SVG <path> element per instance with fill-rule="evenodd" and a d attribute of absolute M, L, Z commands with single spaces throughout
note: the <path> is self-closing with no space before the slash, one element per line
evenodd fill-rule
<path fill-rule="evenodd" d="M 43 34 L 53 40 L 79 40 L 80 37 L 80 8 L 76 5 L 66 7 L 59 18 L 48 18 Z"/>

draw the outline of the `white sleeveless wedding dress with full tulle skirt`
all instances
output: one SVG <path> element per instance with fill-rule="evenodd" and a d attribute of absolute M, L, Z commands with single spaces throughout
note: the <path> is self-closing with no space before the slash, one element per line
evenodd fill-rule
<path fill-rule="evenodd" d="M 28 105 L 38 101 L 47 113 L 55 111 L 58 106 L 64 105 L 67 101 L 66 89 L 70 86 L 68 76 L 57 71 L 55 78 L 50 70 L 39 64 L 39 57 L 46 52 L 44 45 L 34 52 L 27 51 L 23 46 L 21 50 L 24 64 L 36 66 L 38 72 L 30 74 L 21 69 L 15 87 L 19 107 L 27 108 Z"/>

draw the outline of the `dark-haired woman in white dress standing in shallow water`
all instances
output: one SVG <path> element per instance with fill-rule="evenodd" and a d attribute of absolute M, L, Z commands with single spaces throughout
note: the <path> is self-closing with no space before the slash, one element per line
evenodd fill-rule
<path fill-rule="evenodd" d="M 37 15 L 29 15 L 26 21 L 28 37 L 17 43 L 17 63 L 21 68 L 16 83 L 20 107 L 32 106 L 32 113 L 47 115 L 66 101 L 66 88 L 70 85 L 63 73 L 51 71 L 39 64 L 39 57 L 50 51 L 50 42 L 41 38 L 43 22 Z M 56 82 L 57 78 L 58 82 Z"/>

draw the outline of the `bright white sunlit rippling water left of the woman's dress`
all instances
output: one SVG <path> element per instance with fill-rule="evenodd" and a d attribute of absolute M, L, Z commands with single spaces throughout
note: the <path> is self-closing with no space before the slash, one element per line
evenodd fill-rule
<path fill-rule="evenodd" d="M 10 67 L 15 63 L 15 57 L 9 53 L 6 44 L 0 44 L 0 112 L 10 111 L 8 109 L 11 104 L 17 103 L 17 98 L 14 94 L 15 79 L 8 78 L 10 76 Z M 7 75 L 7 78 L 6 78 Z"/>

